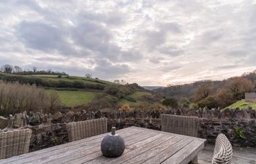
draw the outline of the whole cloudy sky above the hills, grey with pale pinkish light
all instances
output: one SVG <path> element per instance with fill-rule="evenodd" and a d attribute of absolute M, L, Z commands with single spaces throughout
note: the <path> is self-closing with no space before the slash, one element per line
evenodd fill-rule
<path fill-rule="evenodd" d="M 0 65 L 168 85 L 256 69 L 256 0 L 1 0 Z"/>

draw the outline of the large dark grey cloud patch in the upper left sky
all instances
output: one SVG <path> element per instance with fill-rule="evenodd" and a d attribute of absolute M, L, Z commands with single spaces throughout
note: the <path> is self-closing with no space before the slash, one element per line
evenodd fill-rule
<path fill-rule="evenodd" d="M 57 50 L 66 55 L 77 54 L 64 38 L 61 28 L 39 22 L 23 21 L 17 28 L 18 36 L 27 47 L 45 52 Z"/>

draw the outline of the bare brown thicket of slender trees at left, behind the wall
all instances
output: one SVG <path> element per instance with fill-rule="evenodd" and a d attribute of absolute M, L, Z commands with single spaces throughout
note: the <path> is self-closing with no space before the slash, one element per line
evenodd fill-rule
<path fill-rule="evenodd" d="M 35 85 L 0 81 L 0 115 L 4 117 L 23 111 L 53 113 L 60 105 L 59 96 L 55 93 L 47 94 Z"/>

